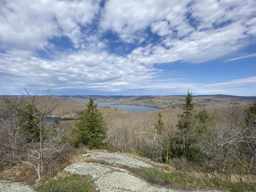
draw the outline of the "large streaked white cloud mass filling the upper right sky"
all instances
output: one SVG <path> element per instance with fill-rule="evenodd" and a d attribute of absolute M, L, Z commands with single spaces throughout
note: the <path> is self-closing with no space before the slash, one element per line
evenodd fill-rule
<path fill-rule="evenodd" d="M 188 3 L 152 1 L 142 6 L 143 1 L 108 1 L 101 26 L 111 29 L 128 43 L 136 40 L 140 31 L 147 27 L 153 33 L 164 36 L 162 43 L 167 48 L 161 44 L 152 46 L 150 51 L 153 54 L 149 58 L 136 54 L 140 60 L 157 63 L 175 60 L 205 62 L 236 52 L 249 44 L 247 34 L 254 34 L 256 24 L 254 20 L 246 25 L 244 22 L 252 17 L 253 1 L 193 1 L 190 6 Z M 197 22 L 197 28 L 191 26 L 187 13 Z M 173 31 L 177 31 L 176 35 Z M 177 38 L 183 36 L 185 38 Z"/>

